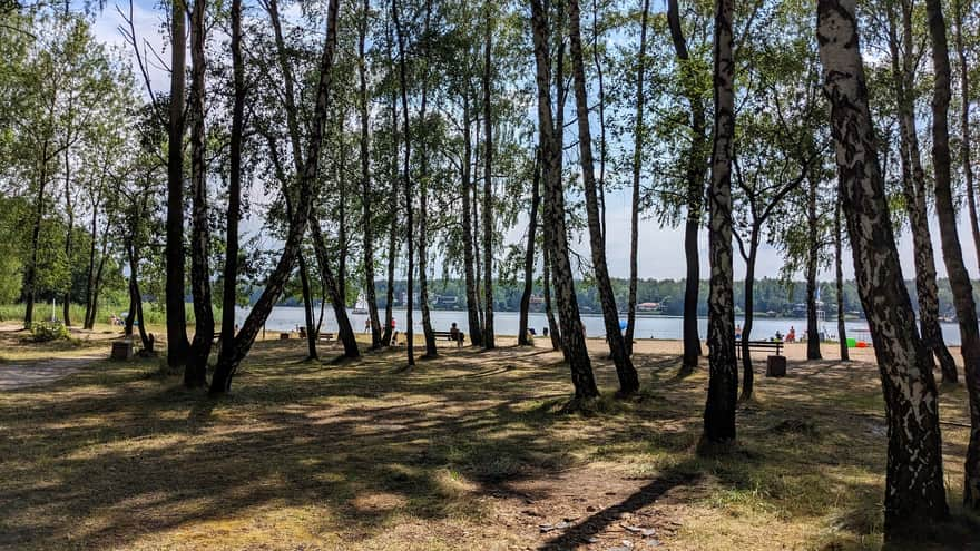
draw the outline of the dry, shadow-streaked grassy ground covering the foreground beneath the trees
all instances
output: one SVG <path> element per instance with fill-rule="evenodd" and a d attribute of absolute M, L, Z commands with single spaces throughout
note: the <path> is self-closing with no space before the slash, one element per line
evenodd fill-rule
<path fill-rule="evenodd" d="M 0 340 L 0 354 L 24 347 Z M 885 426 L 870 363 L 791 360 L 788 377 L 758 378 L 737 449 L 705 460 L 693 451 L 706 376 L 677 378 L 675 354 L 637 355 L 637 399 L 566 414 L 559 355 L 441 352 L 406 371 L 399 352 L 314 364 L 302 342 L 267 341 L 220 400 L 182 388 L 158 360 L 0 393 L 0 548 L 881 544 Z M 608 396 L 615 371 L 595 364 Z M 958 503 L 962 387 L 943 390 L 941 412 Z M 970 532 L 980 524 L 957 512 L 910 549 L 970 549 Z"/>

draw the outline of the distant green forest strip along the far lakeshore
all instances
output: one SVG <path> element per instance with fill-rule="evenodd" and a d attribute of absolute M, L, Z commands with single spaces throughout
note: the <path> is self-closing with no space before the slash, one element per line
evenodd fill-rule
<path fill-rule="evenodd" d="M 684 314 L 684 279 L 640 279 L 637 286 L 637 303 L 658 303 L 655 312 L 659 315 L 680 316 Z M 943 317 L 955 317 L 952 304 L 952 293 L 948 279 L 939 279 L 939 311 Z M 465 282 L 462 279 L 433 279 L 430 282 L 430 303 L 433 309 L 465 311 Z M 520 306 L 520 294 L 522 282 L 504 282 L 498 281 L 493 288 L 494 305 L 497 312 L 517 312 Z M 627 304 L 627 279 L 612 279 L 612 288 L 616 293 L 616 303 Z M 915 282 L 905 281 L 905 287 L 909 289 L 909 296 L 912 298 L 912 307 L 919 308 L 915 301 Z M 974 289 L 980 292 L 980 284 L 973 284 Z M 374 284 L 378 296 L 378 305 L 380 308 L 386 306 L 388 285 L 384 281 L 378 281 Z M 402 296 L 406 285 L 403 279 L 394 283 L 394 305 L 403 306 Z M 708 282 L 700 282 L 700 292 L 698 296 L 702 301 L 698 304 L 697 313 L 700 316 L 707 315 L 707 303 L 704 297 L 707 296 Z M 540 282 L 535 285 L 535 296 L 542 296 Z M 805 309 L 805 282 L 785 282 L 777 278 L 763 278 L 755 282 L 755 312 L 758 315 L 768 315 L 773 317 L 802 317 Z M 259 292 L 253 293 L 253 301 L 257 298 Z M 582 312 L 600 313 L 599 295 L 592 282 L 577 282 L 576 294 L 578 295 L 579 306 Z M 357 297 L 357 291 L 352 289 L 349 296 L 349 306 L 354 306 Z M 418 296 L 415 297 L 418 301 Z M 743 312 L 744 307 L 744 282 L 735 282 L 735 309 L 737 313 Z M 820 298 L 824 302 L 824 311 L 827 316 L 836 316 L 837 292 L 833 282 L 820 283 Z M 282 302 L 286 306 L 302 305 L 302 295 L 292 294 Z M 418 304 L 418 303 L 416 303 Z M 532 312 L 541 312 L 542 303 L 532 303 Z M 844 282 L 844 312 L 849 316 L 864 317 L 861 308 L 861 302 L 857 297 L 857 289 L 853 281 Z M 654 312 L 647 312 L 654 313 Z M 644 314 L 640 311 L 640 314 Z"/>

